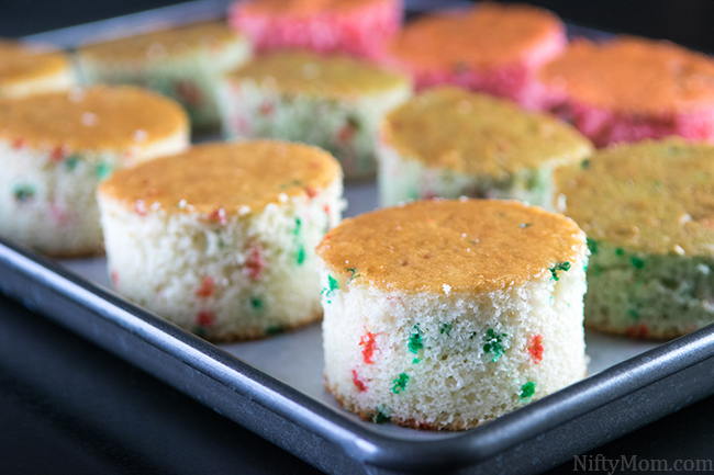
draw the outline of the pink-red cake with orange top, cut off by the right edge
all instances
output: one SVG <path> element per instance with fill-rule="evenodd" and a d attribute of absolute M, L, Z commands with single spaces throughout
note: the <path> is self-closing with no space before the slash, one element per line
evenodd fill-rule
<path fill-rule="evenodd" d="M 542 106 L 599 147 L 669 135 L 714 139 L 714 60 L 668 42 L 578 41 L 538 81 Z"/>

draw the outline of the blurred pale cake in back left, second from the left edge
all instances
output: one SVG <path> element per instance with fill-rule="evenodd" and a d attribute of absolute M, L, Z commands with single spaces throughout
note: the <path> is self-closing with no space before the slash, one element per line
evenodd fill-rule
<path fill-rule="evenodd" d="M 89 45 L 77 54 L 85 82 L 136 84 L 179 101 L 193 127 L 219 126 L 219 78 L 252 54 L 223 22 L 199 23 Z"/>

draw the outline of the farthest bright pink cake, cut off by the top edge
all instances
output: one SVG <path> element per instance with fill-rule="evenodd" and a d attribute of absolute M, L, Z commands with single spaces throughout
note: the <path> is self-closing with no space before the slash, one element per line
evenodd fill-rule
<path fill-rule="evenodd" d="M 283 47 L 379 58 L 400 29 L 402 0 L 247 0 L 228 13 L 258 50 Z"/>

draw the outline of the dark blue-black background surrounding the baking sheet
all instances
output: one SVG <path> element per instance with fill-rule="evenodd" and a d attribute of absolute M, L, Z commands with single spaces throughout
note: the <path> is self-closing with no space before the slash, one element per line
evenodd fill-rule
<path fill-rule="evenodd" d="M 0 36 L 175 3 L 0 0 Z M 714 52 L 714 1 L 543 0 L 565 20 Z M 593 451 L 714 459 L 714 397 Z M 571 473 L 567 462 L 551 474 Z M 0 474 L 315 474 L 314 468 L 0 294 Z M 582 473 L 582 472 L 580 472 Z"/>

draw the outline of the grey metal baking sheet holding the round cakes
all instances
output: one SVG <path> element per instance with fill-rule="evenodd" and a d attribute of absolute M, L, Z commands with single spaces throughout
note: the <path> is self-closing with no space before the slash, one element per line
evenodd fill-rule
<path fill-rule="evenodd" d="M 135 34 L 214 18 L 225 3 L 200 0 L 32 39 L 71 47 L 108 25 L 113 36 Z M 445 4 L 406 3 L 412 12 Z M 377 205 L 373 183 L 348 184 L 345 194 L 346 215 Z M 364 422 L 337 406 L 322 387 L 319 326 L 216 347 L 114 294 L 103 259 L 54 262 L 3 239 L 0 291 L 332 474 L 538 473 L 714 393 L 712 327 L 663 344 L 588 332 L 590 377 L 476 429 L 422 432 Z"/>

